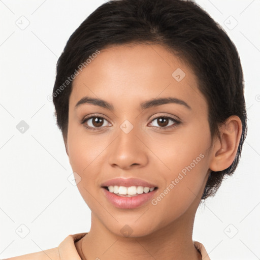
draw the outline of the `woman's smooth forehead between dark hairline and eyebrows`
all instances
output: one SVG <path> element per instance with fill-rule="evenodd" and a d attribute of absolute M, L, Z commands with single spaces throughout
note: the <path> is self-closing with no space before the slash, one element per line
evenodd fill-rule
<path fill-rule="evenodd" d="M 73 81 L 70 104 L 84 95 L 133 106 L 142 100 L 173 96 L 205 107 L 198 80 L 180 58 L 160 45 L 109 47 L 91 59 Z"/>

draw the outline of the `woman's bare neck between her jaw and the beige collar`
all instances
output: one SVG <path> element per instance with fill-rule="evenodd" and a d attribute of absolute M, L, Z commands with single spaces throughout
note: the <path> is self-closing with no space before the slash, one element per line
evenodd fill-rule
<path fill-rule="evenodd" d="M 82 251 L 78 250 L 79 254 L 83 260 L 201 260 L 202 256 L 192 242 L 196 211 L 194 214 L 190 211 L 191 208 L 174 222 L 142 237 L 118 236 L 92 214 L 91 229 L 80 242 Z"/>

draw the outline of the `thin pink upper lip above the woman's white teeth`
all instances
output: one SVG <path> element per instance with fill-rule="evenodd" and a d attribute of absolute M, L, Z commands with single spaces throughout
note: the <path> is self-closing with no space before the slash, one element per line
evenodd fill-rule
<path fill-rule="evenodd" d="M 125 186 L 125 187 L 131 187 L 131 186 L 143 186 L 143 187 L 156 187 L 156 185 L 149 183 L 147 181 L 137 179 L 137 178 L 115 178 L 108 180 L 106 182 L 103 182 L 101 186 L 108 187 L 108 186 Z"/>

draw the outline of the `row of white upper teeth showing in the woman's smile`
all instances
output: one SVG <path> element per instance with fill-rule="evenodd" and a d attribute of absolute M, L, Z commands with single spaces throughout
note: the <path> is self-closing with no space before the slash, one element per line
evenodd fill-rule
<path fill-rule="evenodd" d="M 148 193 L 149 191 L 153 191 L 154 187 L 143 187 L 143 186 L 131 186 L 131 187 L 125 187 L 125 186 L 108 186 L 108 189 L 110 192 L 115 193 L 117 195 L 122 196 L 137 196 L 137 194 L 142 193 Z"/>

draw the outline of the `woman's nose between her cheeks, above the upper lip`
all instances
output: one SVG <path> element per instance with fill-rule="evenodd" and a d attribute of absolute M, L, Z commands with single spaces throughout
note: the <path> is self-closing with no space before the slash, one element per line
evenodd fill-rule
<path fill-rule="evenodd" d="M 114 168 L 140 168 L 148 164 L 147 146 L 141 141 L 143 134 L 134 127 L 129 133 L 120 128 L 118 136 L 110 146 L 109 164 Z"/>

